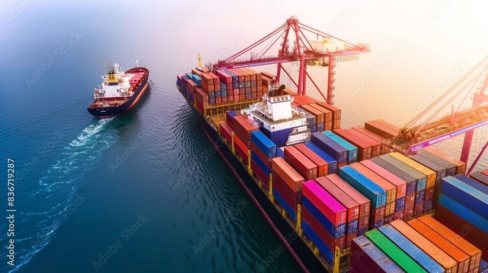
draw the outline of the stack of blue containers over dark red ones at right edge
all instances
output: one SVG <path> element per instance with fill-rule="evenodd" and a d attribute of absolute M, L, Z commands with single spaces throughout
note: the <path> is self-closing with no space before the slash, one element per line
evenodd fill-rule
<path fill-rule="evenodd" d="M 466 176 L 447 176 L 441 180 L 436 219 L 482 250 L 482 258 L 486 260 L 488 258 L 488 187 L 468 179 L 470 178 Z"/>

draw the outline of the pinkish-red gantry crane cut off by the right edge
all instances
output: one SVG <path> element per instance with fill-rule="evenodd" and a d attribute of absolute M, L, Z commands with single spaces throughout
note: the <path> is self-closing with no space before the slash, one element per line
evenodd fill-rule
<path fill-rule="evenodd" d="M 385 144 L 405 155 L 411 155 L 424 147 L 466 133 L 461 160 L 467 163 L 474 129 L 488 124 L 487 86 L 488 55 L 449 88 L 445 94 L 401 128 L 399 136 L 386 139 Z M 472 105 L 461 109 L 469 95 L 472 95 Z M 454 104 L 451 104 L 454 102 L 458 103 L 456 110 L 454 110 Z M 449 107 L 451 107 L 450 113 L 441 115 Z M 433 113 L 428 116 L 428 113 L 432 111 Z M 421 119 L 422 121 L 420 121 Z M 468 170 L 468 175 L 487 147 L 488 142 L 474 160 Z"/>

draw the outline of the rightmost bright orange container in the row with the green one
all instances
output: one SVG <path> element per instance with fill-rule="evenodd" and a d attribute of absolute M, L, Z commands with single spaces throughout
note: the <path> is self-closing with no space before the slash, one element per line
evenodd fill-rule
<path fill-rule="evenodd" d="M 422 223 L 427 225 L 430 229 L 434 230 L 439 235 L 443 236 L 445 239 L 447 239 L 450 243 L 458 247 L 464 253 L 468 254 L 469 255 L 468 272 L 477 272 L 478 268 L 480 268 L 481 250 L 473 246 L 471 243 L 463 239 L 458 234 L 448 229 L 440 222 L 434 220 L 434 218 L 430 217 L 429 215 L 424 215 L 417 219 L 422 221 Z"/>

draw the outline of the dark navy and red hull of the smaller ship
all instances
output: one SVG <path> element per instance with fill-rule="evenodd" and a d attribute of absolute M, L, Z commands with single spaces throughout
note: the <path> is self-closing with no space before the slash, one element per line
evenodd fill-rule
<path fill-rule="evenodd" d="M 110 105 L 111 102 L 118 102 L 123 98 L 106 98 L 104 102 L 109 104 L 108 107 L 101 107 L 101 103 L 97 103 L 95 101 L 88 107 L 88 113 L 92 114 L 95 117 L 111 117 L 115 116 L 117 114 L 120 114 L 126 110 L 129 110 L 132 108 L 134 105 L 137 104 L 137 102 L 142 98 L 142 95 L 147 90 L 147 80 L 149 76 L 149 72 L 145 68 L 133 68 L 128 70 L 126 73 L 131 73 L 132 70 L 135 70 L 137 72 L 143 72 L 144 77 L 142 78 L 142 81 L 138 83 L 136 90 L 134 91 L 134 94 L 128 99 L 122 102 L 122 104 L 118 106 L 112 106 Z"/>

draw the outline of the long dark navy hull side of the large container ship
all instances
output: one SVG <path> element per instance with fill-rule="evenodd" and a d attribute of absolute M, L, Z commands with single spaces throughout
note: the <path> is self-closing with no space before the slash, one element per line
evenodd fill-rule
<path fill-rule="evenodd" d="M 243 186 L 245 192 L 261 211 L 271 228 L 278 234 L 284 246 L 294 256 L 303 270 L 310 273 L 325 272 L 324 266 L 320 263 L 315 254 L 313 254 L 307 243 L 300 238 L 295 229 L 286 221 L 285 217 L 277 210 L 275 205 L 271 203 L 268 196 L 259 187 L 254 178 L 249 175 L 247 169 L 244 168 L 243 164 L 225 144 L 224 139 L 219 136 L 218 132 L 205 120 L 188 98 L 184 95 L 183 98 L 185 98 L 188 106 L 190 106 L 190 109 L 202 126 L 209 141 L 215 147 L 216 151 L 219 152 L 222 159 L 224 159 L 224 162 Z M 266 257 L 263 257 L 262 260 L 256 261 L 254 266 L 265 270 L 267 267 L 265 258 Z M 252 269 L 255 269 L 254 266 Z"/>

